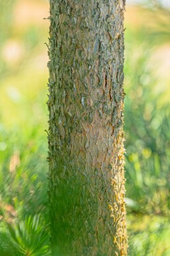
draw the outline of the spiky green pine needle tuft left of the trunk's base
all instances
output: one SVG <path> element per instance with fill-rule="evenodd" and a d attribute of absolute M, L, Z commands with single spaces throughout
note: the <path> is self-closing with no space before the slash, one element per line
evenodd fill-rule
<path fill-rule="evenodd" d="M 50 255 L 48 225 L 40 215 L 1 223 L 0 253 L 8 256 Z"/>

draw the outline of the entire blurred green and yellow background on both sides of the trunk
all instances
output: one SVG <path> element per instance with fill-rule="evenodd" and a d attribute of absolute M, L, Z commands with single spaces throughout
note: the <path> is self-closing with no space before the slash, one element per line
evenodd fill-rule
<path fill-rule="evenodd" d="M 130 256 L 170 255 L 170 1 L 127 1 Z M 50 255 L 48 0 L 0 1 L 0 255 Z"/>

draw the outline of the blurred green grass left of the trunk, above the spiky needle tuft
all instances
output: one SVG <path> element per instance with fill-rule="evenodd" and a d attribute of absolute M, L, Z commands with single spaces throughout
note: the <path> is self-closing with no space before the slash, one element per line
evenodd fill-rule
<path fill-rule="evenodd" d="M 13 205 L 20 216 L 40 213 L 48 202 L 46 145 L 42 138 L 36 137 L 37 133 L 38 129 L 34 134 L 28 132 L 19 142 L 17 131 L 13 131 L 8 140 L 9 133 L 1 128 L 1 144 L 5 143 L 6 148 L 1 151 L 0 158 L 0 193 L 5 203 Z"/>

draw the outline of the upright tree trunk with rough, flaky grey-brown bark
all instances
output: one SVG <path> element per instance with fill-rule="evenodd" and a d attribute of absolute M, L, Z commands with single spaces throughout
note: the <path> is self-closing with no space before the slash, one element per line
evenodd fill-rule
<path fill-rule="evenodd" d="M 127 255 L 123 0 L 50 0 L 55 256 Z"/>

